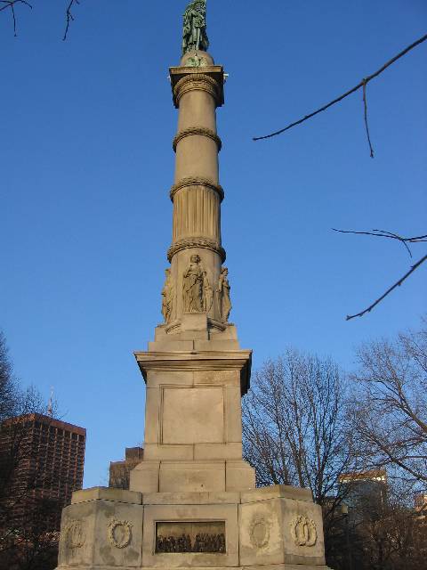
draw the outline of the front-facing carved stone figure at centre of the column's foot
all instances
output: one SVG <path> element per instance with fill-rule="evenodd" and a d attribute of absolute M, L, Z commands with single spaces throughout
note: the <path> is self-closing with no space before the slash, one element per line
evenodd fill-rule
<path fill-rule="evenodd" d="M 212 306 L 212 288 L 197 254 L 189 258 L 183 275 L 182 300 L 184 313 L 207 313 Z"/>

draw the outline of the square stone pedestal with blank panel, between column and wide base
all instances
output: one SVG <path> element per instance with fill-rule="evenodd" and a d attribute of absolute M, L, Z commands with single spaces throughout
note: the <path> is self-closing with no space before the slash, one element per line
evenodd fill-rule
<path fill-rule="evenodd" d="M 197 332 L 208 334 L 206 316 L 189 317 L 193 329 L 135 354 L 147 392 L 144 460 L 131 472 L 131 489 L 218 493 L 254 488 L 254 469 L 242 459 L 240 404 L 252 353 L 224 350 L 237 340 L 194 339 Z M 192 340 L 179 339 L 186 332 Z"/>

